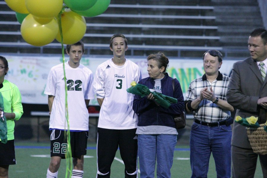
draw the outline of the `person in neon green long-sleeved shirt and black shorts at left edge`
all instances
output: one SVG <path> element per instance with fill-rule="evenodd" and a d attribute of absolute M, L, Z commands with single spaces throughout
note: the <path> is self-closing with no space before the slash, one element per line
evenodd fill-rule
<path fill-rule="evenodd" d="M 9 165 L 16 164 L 15 158 L 15 144 L 14 144 L 14 127 L 15 120 L 20 119 L 23 114 L 23 108 L 21 104 L 21 95 L 18 87 L 4 80 L 5 75 L 8 72 L 8 62 L 3 56 L 0 56 L 0 107 L 1 121 L 6 123 L 7 135 L 1 136 L 0 139 L 0 178 L 8 177 Z M 3 124 L 1 124 L 3 126 Z M 6 140 L 7 139 L 7 140 Z"/>

